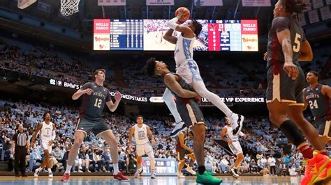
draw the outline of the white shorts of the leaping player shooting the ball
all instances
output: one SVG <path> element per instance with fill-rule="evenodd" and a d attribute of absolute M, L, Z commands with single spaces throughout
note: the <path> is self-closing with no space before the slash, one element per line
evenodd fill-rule
<path fill-rule="evenodd" d="M 176 68 L 176 73 L 188 84 L 193 83 L 193 81 L 203 81 L 200 76 L 198 64 L 192 59 L 179 63 Z"/>

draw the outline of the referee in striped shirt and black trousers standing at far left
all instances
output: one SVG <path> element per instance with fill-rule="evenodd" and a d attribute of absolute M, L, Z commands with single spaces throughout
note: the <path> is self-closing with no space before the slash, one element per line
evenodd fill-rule
<path fill-rule="evenodd" d="M 18 124 L 17 127 L 18 131 L 11 140 L 11 152 L 15 157 L 15 176 L 20 177 L 18 172 L 21 168 L 22 177 L 27 177 L 25 174 L 25 156 L 30 154 L 29 136 L 23 132 L 23 124 Z"/>

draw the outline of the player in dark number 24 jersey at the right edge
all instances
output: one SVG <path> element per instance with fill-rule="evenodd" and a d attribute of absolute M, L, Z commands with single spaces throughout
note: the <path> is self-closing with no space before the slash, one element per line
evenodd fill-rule
<path fill-rule="evenodd" d="M 307 73 L 307 83 L 309 87 L 304 88 L 304 109 L 310 108 L 314 116 L 314 122 L 318 128 L 318 134 L 322 137 L 323 142 L 331 140 L 331 87 L 318 83 L 320 74 L 310 71 Z"/>

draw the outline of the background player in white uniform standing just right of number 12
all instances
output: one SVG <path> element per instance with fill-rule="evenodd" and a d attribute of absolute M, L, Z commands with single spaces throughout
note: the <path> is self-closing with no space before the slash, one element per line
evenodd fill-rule
<path fill-rule="evenodd" d="M 152 175 L 151 178 L 155 179 L 155 160 L 154 160 L 154 152 L 152 145 L 155 145 L 154 136 L 152 134 L 151 129 L 146 124 L 143 124 L 144 118 L 142 115 L 137 116 L 137 124 L 131 127 L 130 134 L 128 135 L 128 151 L 131 151 L 132 147 L 132 136 L 135 136 L 135 152 L 137 153 L 137 171 L 135 172 L 135 178 L 138 178 L 141 170 L 141 159 L 142 155 L 147 154 L 149 160 L 151 161 L 152 167 Z M 149 143 L 149 138 L 151 138 L 152 145 Z"/>

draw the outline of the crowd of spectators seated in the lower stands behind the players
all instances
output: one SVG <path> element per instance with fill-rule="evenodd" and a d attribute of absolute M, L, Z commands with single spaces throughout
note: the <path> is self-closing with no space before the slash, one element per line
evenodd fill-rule
<path fill-rule="evenodd" d="M 3 151 L 1 159 L 9 161 L 10 170 L 13 169 L 13 154 L 10 154 L 10 142 L 11 137 L 15 134 L 17 124 L 23 124 L 24 131 L 31 138 L 36 125 L 43 120 L 42 116 L 45 111 L 52 113 L 52 122 L 57 125 L 55 143 L 52 146 L 53 170 L 61 171 L 66 167 L 66 159 L 68 159 L 68 152 L 70 152 L 73 144 L 74 128 L 78 120 L 78 109 L 65 106 L 29 104 L 27 102 L 0 101 L 0 144 Z M 130 159 L 135 156 L 135 152 L 134 147 L 132 151 L 128 151 L 128 131 L 135 124 L 135 117 L 105 113 L 105 122 L 119 140 L 119 168 L 126 172 L 134 171 L 135 169 L 128 168 L 135 168 L 135 166 L 130 165 L 131 162 L 134 163 Z M 155 157 L 176 159 L 176 140 L 169 137 L 173 127 L 171 118 L 146 116 L 144 122 L 149 125 L 156 140 Z M 216 145 L 213 140 L 220 137 L 223 121 L 217 118 L 207 118 L 206 124 L 208 129 L 205 140 L 205 166 L 215 173 L 228 172 L 234 165 L 235 157 Z M 251 172 L 268 175 L 271 169 L 270 164 L 272 164 L 272 166 L 277 167 L 272 175 L 301 174 L 302 155 L 295 152 L 295 147 L 292 148 L 292 153 L 282 155 L 279 145 L 286 144 L 287 140 L 279 129 L 270 125 L 270 122 L 264 118 L 247 119 L 243 132 L 247 134 L 247 138 L 240 139 L 244 154 L 246 154 L 240 166 L 241 173 Z M 192 140 L 189 140 L 186 144 L 192 147 Z M 272 156 L 277 156 L 277 159 L 271 163 Z M 36 140 L 34 145 L 31 145 L 31 154 L 27 156 L 28 169 L 38 168 L 42 160 L 43 151 L 38 140 Z M 86 168 L 87 166 L 89 168 Z M 101 138 L 96 138 L 93 133 L 87 134 L 84 143 L 80 147 L 73 170 L 77 172 L 111 172 L 112 159 L 107 143 Z"/>

